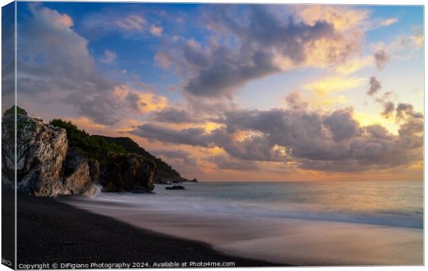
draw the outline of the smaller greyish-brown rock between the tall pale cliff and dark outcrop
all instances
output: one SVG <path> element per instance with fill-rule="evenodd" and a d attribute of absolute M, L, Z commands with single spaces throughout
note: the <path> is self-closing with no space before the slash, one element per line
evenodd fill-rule
<path fill-rule="evenodd" d="M 70 194 L 88 196 L 95 194 L 95 187 L 89 174 L 88 158 L 78 148 L 70 148 L 64 163 L 64 180 L 66 191 Z"/>

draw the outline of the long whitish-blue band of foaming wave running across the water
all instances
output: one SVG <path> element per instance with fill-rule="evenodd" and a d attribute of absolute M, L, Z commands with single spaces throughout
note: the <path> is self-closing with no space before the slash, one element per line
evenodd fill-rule
<path fill-rule="evenodd" d="M 258 219 L 307 219 L 315 221 L 336 221 L 345 223 L 365 223 L 387 225 L 403 228 L 423 228 L 422 217 L 418 212 L 341 212 L 322 210 L 311 205 L 291 203 L 248 203 L 242 201 L 206 199 L 186 195 L 132 194 L 132 193 L 98 193 L 96 201 L 115 202 L 126 205 L 127 209 L 169 211 L 182 214 L 240 215 Z M 113 205 L 111 208 L 115 208 Z M 123 208 L 123 207 L 121 207 Z"/>

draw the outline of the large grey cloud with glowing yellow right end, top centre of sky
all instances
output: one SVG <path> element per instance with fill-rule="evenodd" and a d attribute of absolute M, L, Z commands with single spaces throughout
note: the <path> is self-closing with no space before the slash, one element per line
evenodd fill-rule
<path fill-rule="evenodd" d="M 196 97 L 231 99 L 254 79 L 300 66 L 328 66 L 360 49 L 360 32 L 338 31 L 330 21 L 299 21 L 272 6 L 217 5 L 204 10 L 212 39 L 205 46 L 181 43 L 159 50 L 157 65 L 184 78 L 184 92 Z M 219 43 L 219 40 L 231 40 Z M 162 52 L 162 53 L 161 53 Z M 180 57 L 182 56 L 182 57 Z"/>

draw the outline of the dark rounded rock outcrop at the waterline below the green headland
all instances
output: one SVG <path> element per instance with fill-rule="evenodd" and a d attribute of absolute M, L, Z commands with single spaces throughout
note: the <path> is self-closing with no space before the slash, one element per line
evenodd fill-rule
<path fill-rule="evenodd" d="M 103 192 L 151 192 L 157 169 L 141 155 L 108 152 L 101 166 Z"/>

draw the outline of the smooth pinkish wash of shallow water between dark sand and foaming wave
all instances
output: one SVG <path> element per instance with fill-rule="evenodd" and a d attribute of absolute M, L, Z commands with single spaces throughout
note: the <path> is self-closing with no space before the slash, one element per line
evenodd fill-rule
<path fill-rule="evenodd" d="M 363 223 L 198 214 L 150 203 L 66 198 L 77 208 L 139 228 L 210 243 L 215 250 L 291 265 L 422 265 L 423 232 Z M 137 197 L 137 196 L 135 196 Z M 138 197 L 144 197 L 138 196 Z M 114 198 L 112 198 L 114 199 Z"/>

